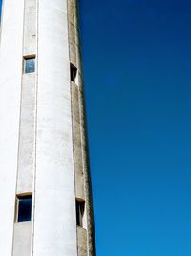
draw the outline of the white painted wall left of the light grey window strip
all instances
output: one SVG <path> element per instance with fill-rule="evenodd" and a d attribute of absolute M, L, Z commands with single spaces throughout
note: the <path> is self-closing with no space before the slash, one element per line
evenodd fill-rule
<path fill-rule="evenodd" d="M 24 0 L 5 0 L 0 46 L 0 255 L 11 256 L 22 75 Z"/>

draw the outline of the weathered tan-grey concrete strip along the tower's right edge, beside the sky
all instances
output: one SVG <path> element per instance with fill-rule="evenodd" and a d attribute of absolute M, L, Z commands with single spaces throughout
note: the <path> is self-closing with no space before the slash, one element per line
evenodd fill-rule
<path fill-rule="evenodd" d="M 84 114 L 83 80 L 80 57 L 78 9 L 76 0 L 68 0 L 70 61 L 77 68 L 75 84 L 71 82 L 73 105 L 75 197 L 85 201 L 83 228 L 77 228 L 78 256 L 96 255 L 94 217 L 86 122 Z"/>

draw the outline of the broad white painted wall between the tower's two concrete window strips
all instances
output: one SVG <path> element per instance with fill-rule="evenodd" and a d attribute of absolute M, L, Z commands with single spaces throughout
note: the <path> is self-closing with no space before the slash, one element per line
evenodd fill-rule
<path fill-rule="evenodd" d="M 39 1 L 34 256 L 76 256 L 66 0 Z"/>

